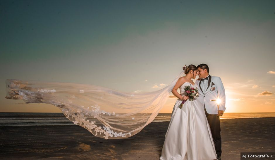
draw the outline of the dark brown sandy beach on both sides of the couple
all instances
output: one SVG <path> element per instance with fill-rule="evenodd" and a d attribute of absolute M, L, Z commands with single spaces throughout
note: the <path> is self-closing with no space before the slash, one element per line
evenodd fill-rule
<path fill-rule="evenodd" d="M 169 122 L 126 139 L 95 137 L 78 125 L 0 127 L 0 159 L 148 159 L 161 155 Z M 275 118 L 221 119 L 222 159 L 275 152 Z"/>

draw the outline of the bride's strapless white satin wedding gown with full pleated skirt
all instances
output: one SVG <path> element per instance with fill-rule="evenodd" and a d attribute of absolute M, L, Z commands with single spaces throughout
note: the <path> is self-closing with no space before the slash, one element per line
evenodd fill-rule
<path fill-rule="evenodd" d="M 181 95 L 185 95 L 185 86 L 180 87 Z M 165 141 L 160 160 L 213 160 L 216 151 L 211 135 L 211 130 L 205 116 L 204 106 L 198 100 L 187 100 L 182 109 L 178 99 L 174 105 L 171 120 L 165 134 Z"/>

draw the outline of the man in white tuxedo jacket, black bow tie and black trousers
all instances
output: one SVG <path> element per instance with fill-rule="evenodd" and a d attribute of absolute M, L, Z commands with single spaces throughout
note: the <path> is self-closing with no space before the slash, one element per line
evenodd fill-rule
<path fill-rule="evenodd" d="M 196 84 L 199 86 L 198 100 L 204 104 L 204 111 L 209 123 L 217 159 L 221 159 L 221 127 L 220 117 L 225 111 L 225 92 L 220 77 L 210 76 L 207 64 L 200 64 L 198 67 L 199 79 Z"/>

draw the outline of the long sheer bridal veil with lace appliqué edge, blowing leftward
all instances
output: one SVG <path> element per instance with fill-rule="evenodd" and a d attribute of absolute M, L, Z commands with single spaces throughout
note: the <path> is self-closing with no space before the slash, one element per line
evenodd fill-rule
<path fill-rule="evenodd" d="M 6 98 L 57 106 L 75 125 L 100 138 L 128 138 L 154 120 L 183 73 L 165 88 L 145 93 L 90 84 L 6 79 Z"/>

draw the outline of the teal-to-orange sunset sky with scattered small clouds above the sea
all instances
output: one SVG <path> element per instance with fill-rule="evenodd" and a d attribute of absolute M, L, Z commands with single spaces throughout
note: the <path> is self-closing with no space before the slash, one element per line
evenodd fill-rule
<path fill-rule="evenodd" d="M 201 63 L 221 77 L 226 112 L 275 112 L 274 6 L 0 0 L 0 112 L 61 112 L 5 99 L 6 79 L 149 92 L 169 84 L 183 65 Z M 161 113 L 171 113 L 176 100 L 169 98 Z"/>

